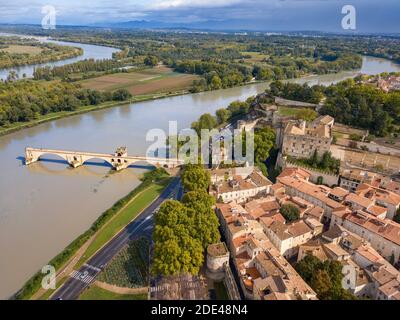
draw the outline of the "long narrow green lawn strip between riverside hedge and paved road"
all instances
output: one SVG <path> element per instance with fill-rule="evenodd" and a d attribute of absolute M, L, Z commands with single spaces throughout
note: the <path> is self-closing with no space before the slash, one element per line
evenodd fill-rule
<path fill-rule="evenodd" d="M 76 267 L 78 268 L 83 265 L 97 250 L 110 241 L 120 230 L 136 218 L 139 213 L 147 208 L 162 193 L 170 181 L 171 178 L 166 178 L 162 183 L 151 185 L 142 193 L 138 194 L 123 210 L 115 215 L 115 217 L 99 231 Z"/>

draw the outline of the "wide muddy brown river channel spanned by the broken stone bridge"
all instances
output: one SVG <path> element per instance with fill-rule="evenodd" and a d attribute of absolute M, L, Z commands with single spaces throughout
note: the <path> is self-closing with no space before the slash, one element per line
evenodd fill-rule
<path fill-rule="evenodd" d="M 328 85 L 360 71 L 373 74 L 400 71 L 400 67 L 365 57 L 362 70 L 294 81 Z M 151 144 L 145 141 L 148 130 L 167 130 L 169 120 L 186 128 L 201 114 L 214 113 L 266 86 L 253 84 L 124 105 L 0 137 L 0 299 L 16 292 L 101 212 L 137 186 L 146 170 L 129 168 L 110 175 L 110 168 L 101 162 L 70 169 L 50 156 L 27 167 L 23 164 L 26 146 L 104 153 L 127 146 L 129 154 L 144 155 Z"/>

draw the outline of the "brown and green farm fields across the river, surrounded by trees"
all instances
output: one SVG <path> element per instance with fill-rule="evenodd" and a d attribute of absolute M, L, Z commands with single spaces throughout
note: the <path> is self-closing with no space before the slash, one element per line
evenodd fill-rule
<path fill-rule="evenodd" d="M 170 68 L 159 66 L 133 72 L 104 75 L 83 80 L 80 84 L 84 88 L 99 91 L 126 89 L 133 95 L 146 95 L 187 90 L 196 79 L 198 77 L 195 75 L 177 73 Z"/>

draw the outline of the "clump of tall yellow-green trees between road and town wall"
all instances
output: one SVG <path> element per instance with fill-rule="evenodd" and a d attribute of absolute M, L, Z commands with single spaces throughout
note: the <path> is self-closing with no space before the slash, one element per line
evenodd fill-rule
<path fill-rule="evenodd" d="M 188 191 L 182 201 L 166 201 L 155 216 L 152 271 L 157 275 L 198 274 L 205 249 L 220 239 L 215 199 L 207 192 L 209 172 L 187 165 L 182 184 Z"/>

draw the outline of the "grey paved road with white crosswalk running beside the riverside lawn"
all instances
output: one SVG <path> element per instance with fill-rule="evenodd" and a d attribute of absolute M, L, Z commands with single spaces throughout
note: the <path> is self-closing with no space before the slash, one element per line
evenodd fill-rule
<path fill-rule="evenodd" d="M 150 236 L 153 230 L 153 215 L 157 208 L 171 198 L 180 199 L 183 190 L 179 178 L 174 178 L 170 185 L 143 213 L 131 222 L 124 230 L 98 251 L 78 271 L 71 273 L 70 278 L 53 295 L 52 300 L 75 300 L 91 283 L 105 265 L 131 240 L 140 236 Z"/>

